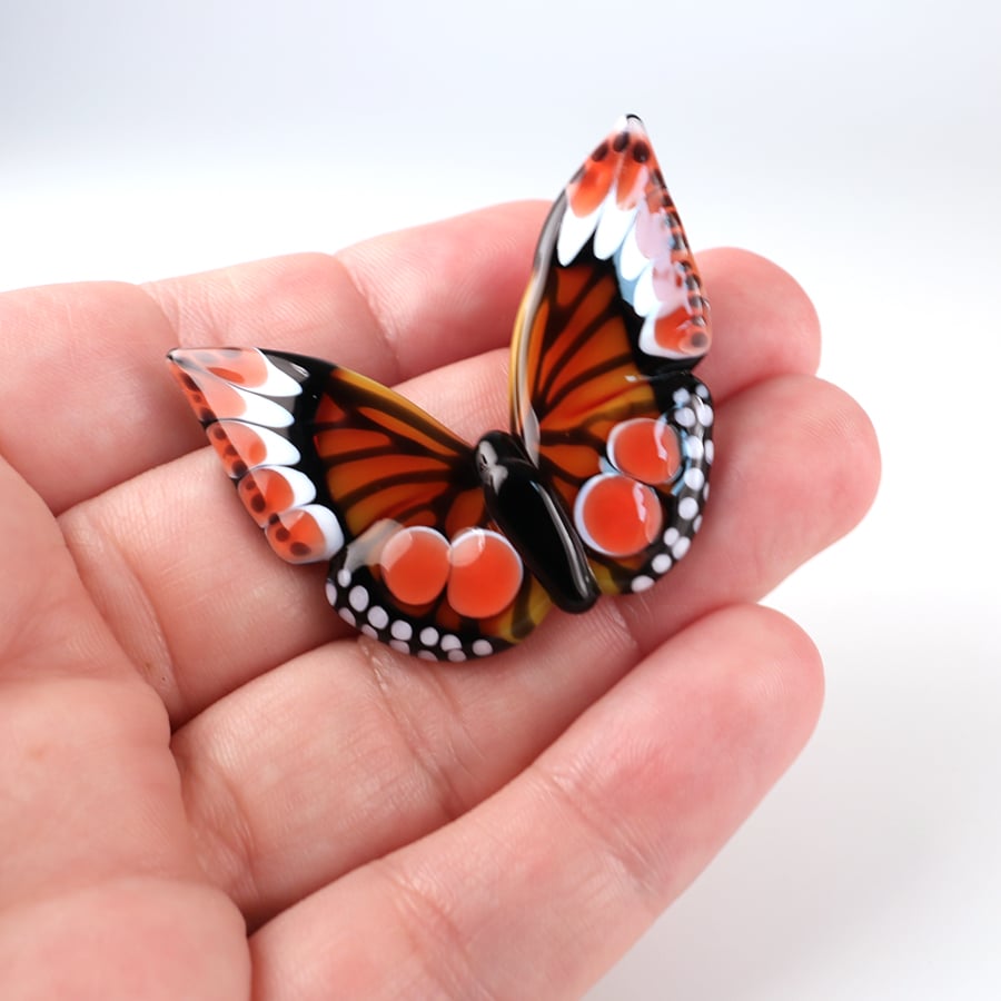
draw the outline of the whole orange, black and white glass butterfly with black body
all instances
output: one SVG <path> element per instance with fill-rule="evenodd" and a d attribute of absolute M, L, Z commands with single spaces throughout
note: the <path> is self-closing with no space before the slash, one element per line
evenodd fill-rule
<path fill-rule="evenodd" d="M 553 605 L 642 592 L 688 551 L 713 460 L 692 374 L 708 303 L 638 118 L 545 221 L 512 340 L 511 430 L 475 445 L 363 375 L 288 351 L 170 351 L 275 553 L 329 562 L 330 605 L 426 660 L 519 642 Z"/>

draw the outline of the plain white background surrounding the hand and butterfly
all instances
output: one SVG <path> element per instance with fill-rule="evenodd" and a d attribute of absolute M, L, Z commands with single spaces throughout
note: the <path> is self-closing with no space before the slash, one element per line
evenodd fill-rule
<path fill-rule="evenodd" d="M 803 759 L 598 984 L 1001 997 L 1001 4 L 8 2 L 0 287 L 145 279 L 518 197 L 644 116 L 696 246 L 813 295 L 884 485 L 771 602 Z"/>

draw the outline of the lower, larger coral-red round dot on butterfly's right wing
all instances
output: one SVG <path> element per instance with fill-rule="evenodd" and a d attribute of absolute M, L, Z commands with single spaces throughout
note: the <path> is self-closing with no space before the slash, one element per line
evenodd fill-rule
<path fill-rule="evenodd" d="M 609 556 L 642 553 L 664 519 L 656 493 L 630 476 L 603 473 L 584 484 L 574 518 L 585 541 Z"/>

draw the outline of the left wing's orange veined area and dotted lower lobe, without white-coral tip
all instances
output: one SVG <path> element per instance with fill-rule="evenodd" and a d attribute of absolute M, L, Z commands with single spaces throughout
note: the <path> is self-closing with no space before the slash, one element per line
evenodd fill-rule
<path fill-rule="evenodd" d="M 363 632 L 464 660 L 524 638 L 551 602 L 486 512 L 473 449 L 429 414 L 331 367 L 311 422 L 347 545 L 328 597 Z"/>

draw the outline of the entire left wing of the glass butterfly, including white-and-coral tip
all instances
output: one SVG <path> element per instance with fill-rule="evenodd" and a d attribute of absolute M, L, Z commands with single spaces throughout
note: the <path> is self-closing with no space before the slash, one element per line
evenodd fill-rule
<path fill-rule="evenodd" d="M 171 351 L 248 513 L 291 563 L 329 561 L 343 618 L 434 660 L 484 656 L 549 608 L 484 506 L 473 449 L 348 369 L 284 351 Z"/>

